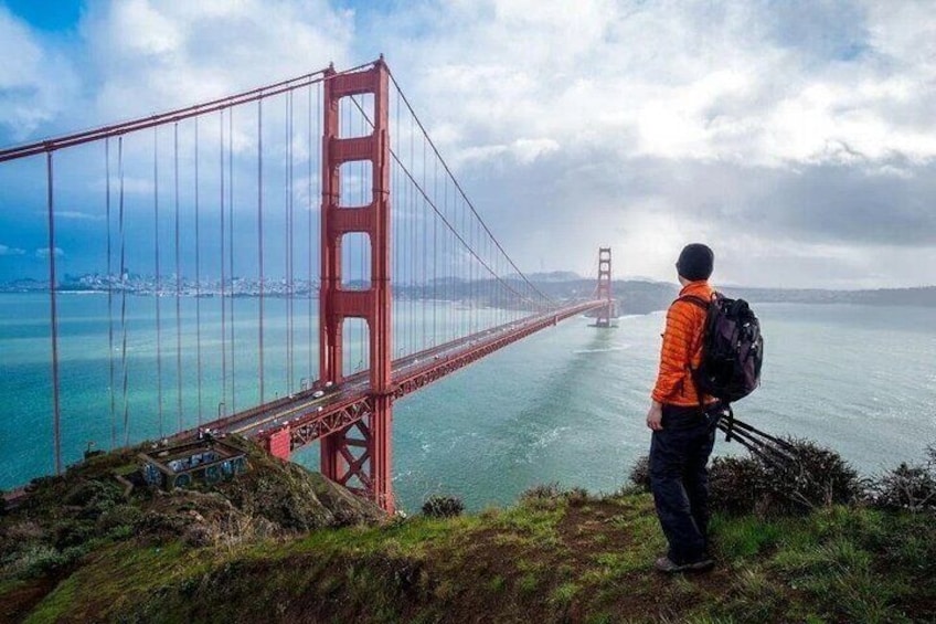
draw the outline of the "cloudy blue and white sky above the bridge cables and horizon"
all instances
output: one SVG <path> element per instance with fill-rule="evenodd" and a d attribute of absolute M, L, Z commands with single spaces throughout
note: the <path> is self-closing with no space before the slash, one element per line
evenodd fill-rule
<path fill-rule="evenodd" d="M 528 272 L 936 284 L 934 1 L 0 0 L 0 146 L 380 53 Z M 49 253 L 11 188 L 7 277 Z"/>

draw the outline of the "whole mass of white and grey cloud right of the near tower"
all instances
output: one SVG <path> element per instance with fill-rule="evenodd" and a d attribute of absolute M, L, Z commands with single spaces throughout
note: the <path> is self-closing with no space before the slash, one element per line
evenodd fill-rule
<path fill-rule="evenodd" d="M 581 271 L 600 242 L 671 278 L 708 240 L 731 279 L 932 282 L 913 258 L 936 248 L 936 18 L 892 8 L 491 0 L 422 6 L 384 36 L 522 266 Z M 557 149 L 511 162 L 530 137 Z M 898 247 L 889 273 L 862 260 Z"/>

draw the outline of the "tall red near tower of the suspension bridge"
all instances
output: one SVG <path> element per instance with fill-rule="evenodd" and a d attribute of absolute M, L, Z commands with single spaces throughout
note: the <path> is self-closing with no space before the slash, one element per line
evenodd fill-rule
<path fill-rule="evenodd" d="M 339 385 L 343 380 L 342 326 L 345 318 L 368 324 L 370 339 L 369 414 L 321 441 L 321 472 L 329 479 L 357 490 L 393 512 L 391 429 L 393 382 L 391 371 L 390 283 L 390 135 L 389 71 L 381 56 L 370 70 L 337 74 L 326 72 L 322 136 L 321 283 L 319 289 L 319 380 Z M 340 102 L 372 94 L 374 109 L 370 135 L 342 138 Z M 369 204 L 341 204 L 341 166 L 370 161 L 373 197 Z M 371 285 L 366 290 L 341 287 L 341 243 L 345 234 L 366 234 L 371 244 Z"/>

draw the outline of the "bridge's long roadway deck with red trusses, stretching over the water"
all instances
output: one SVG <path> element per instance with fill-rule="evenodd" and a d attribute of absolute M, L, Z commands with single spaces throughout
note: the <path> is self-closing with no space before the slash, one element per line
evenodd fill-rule
<path fill-rule="evenodd" d="M 573 303 L 394 360 L 394 399 L 415 392 L 531 334 L 606 304 L 605 300 Z M 316 398 L 319 390 L 325 391 L 325 395 Z M 372 398 L 370 371 L 365 370 L 347 377 L 339 387 L 326 389 L 315 383 L 289 396 L 204 423 L 201 429 L 237 433 L 268 448 L 273 438 L 288 435 L 288 450 L 292 451 L 364 417 L 370 413 Z M 189 430 L 173 437 L 190 437 L 195 432 Z"/>

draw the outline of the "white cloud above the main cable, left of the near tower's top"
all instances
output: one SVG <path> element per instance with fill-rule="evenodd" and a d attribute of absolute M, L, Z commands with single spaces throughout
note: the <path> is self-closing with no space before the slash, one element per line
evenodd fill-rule
<path fill-rule="evenodd" d="M 146 115 L 347 65 L 352 17 L 323 0 L 95 3 L 81 25 L 95 115 Z"/>

